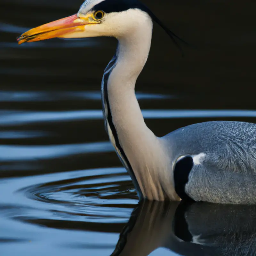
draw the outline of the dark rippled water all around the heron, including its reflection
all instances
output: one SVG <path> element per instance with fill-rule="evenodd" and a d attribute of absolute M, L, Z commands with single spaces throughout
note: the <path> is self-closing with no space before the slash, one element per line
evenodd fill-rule
<path fill-rule="evenodd" d="M 196 45 L 182 58 L 154 27 L 136 89 L 155 134 L 209 120 L 255 123 L 256 4 L 144 2 Z M 16 43 L 81 3 L 0 2 L 0 254 L 256 255 L 254 206 L 138 204 L 102 120 L 115 39 Z"/>

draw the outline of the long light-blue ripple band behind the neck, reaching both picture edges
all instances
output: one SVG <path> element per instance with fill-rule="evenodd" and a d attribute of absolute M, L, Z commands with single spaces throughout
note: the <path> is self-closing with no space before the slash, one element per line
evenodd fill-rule
<path fill-rule="evenodd" d="M 208 118 L 208 117 L 256 117 L 256 110 L 192 110 L 192 109 L 144 109 L 145 119 Z M 36 122 L 63 122 L 70 120 L 103 119 L 102 110 L 76 111 L 0 111 L 0 125 L 20 125 Z"/>

